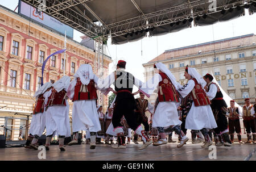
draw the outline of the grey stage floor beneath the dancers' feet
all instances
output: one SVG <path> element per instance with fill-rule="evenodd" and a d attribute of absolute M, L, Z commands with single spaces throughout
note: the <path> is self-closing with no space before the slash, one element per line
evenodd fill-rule
<path fill-rule="evenodd" d="M 82 161 L 256 161 L 256 144 L 238 144 L 230 147 L 216 147 L 216 160 L 209 159 L 209 153 L 213 150 L 201 148 L 201 144 L 188 142 L 178 149 L 177 143 L 168 143 L 161 146 L 148 146 L 147 149 L 138 150 L 140 145 L 130 144 L 127 149 L 113 149 L 110 145 L 97 144 L 96 149 L 90 149 L 90 145 L 65 146 L 66 151 L 60 152 L 58 145 L 51 145 L 46 151 L 46 160 L 82 160 Z M 0 149 L 0 161 L 24 161 L 39 160 L 39 150 L 19 148 Z M 39 160 L 45 161 L 45 160 Z"/>

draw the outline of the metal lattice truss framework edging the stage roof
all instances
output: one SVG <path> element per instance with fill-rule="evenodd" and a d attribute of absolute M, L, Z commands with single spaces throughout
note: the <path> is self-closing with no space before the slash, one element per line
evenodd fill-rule
<path fill-rule="evenodd" d="M 196 18 L 197 16 L 203 16 L 205 14 L 213 14 L 220 12 L 221 10 L 242 6 L 245 3 L 250 4 L 255 1 L 237 1 L 226 0 L 222 4 L 217 4 L 215 9 L 210 10 L 209 5 L 211 2 L 203 0 L 187 1 L 179 6 L 170 7 L 168 9 L 151 12 L 144 14 L 138 5 L 134 3 L 134 6 L 141 13 L 140 16 L 122 20 L 106 25 L 98 16 L 90 10 L 89 6 L 85 3 L 92 0 L 46 0 L 46 5 L 43 5 L 43 0 L 22 0 L 32 6 L 41 6 L 44 12 L 54 18 L 60 20 L 64 24 L 79 30 L 89 37 L 103 36 L 105 38 L 111 36 L 125 35 L 126 33 L 146 30 L 148 28 L 154 28 L 163 26 L 166 24 L 188 20 L 189 18 Z M 93 23 L 85 14 L 81 13 L 81 10 L 77 10 L 77 5 L 84 6 L 89 10 L 95 18 L 101 21 L 102 26 L 98 26 Z"/>

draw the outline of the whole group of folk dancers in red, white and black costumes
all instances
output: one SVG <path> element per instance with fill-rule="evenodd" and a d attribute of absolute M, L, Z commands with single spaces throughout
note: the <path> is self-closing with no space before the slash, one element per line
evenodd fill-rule
<path fill-rule="evenodd" d="M 245 99 L 246 104 L 240 112 L 234 106 L 234 100 L 231 100 L 230 107 L 227 107 L 220 88 L 212 82 L 212 75 L 201 77 L 195 68 L 187 66 L 184 76 L 188 82 L 182 86 L 171 71 L 159 62 L 154 65 L 154 77 L 143 83 L 126 72 L 125 66 L 126 62 L 119 60 L 117 70 L 100 79 L 93 73 L 92 66 L 83 64 L 71 82 L 68 76 L 64 76 L 53 84 L 44 83 L 35 93 L 36 104 L 29 131 L 34 138 L 26 145 L 38 149 L 38 139 L 46 128 L 46 150 L 49 150 L 50 141 L 55 135 L 59 135 L 60 150 L 65 150 L 64 139 L 71 136 L 68 99 L 73 102 L 73 140 L 68 145 L 77 144 L 78 132 L 86 131 L 90 149 L 95 149 L 96 143 L 101 142 L 104 136 L 106 144 L 112 144 L 116 136 L 117 144 L 112 148 L 125 149 L 126 136 L 130 138 L 133 129 L 134 143 L 138 144 L 138 136 L 143 141 L 139 150 L 153 142 L 154 146 L 174 142 L 172 132 L 179 136 L 177 148 L 181 148 L 189 140 L 185 136 L 187 129 L 191 129 L 192 143 L 204 141 L 202 148 L 212 145 L 212 133 L 216 146 L 232 146 L 235 131 L 238 141 L 242 142 L 240 116 L 247 132 L 246 143 L 255 143 L 256 104 L 253 106 L 250 99 Z M 112 84 L 114 90 L 110 88 Z M 139 89 L 136 93 L 133 93 L 134 85 Z M 97 90 L 105 95 L 113 91 L 116 95 L 106 115 L 102 113 L 102 106 L 97 108 Z M 138 93 L 140 98 L 134 99 Z M 155 107 L 144 99 L 144 95 L 150 97 L 152 93 L 158 94 Z M 150 125 L 146 111 L 151 113 Z M 166 135 L 169 135 L 168 141 Z"/>

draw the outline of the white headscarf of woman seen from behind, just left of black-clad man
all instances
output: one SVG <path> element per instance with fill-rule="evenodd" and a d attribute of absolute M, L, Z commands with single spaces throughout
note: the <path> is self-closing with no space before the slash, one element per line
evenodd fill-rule
<path fill-rule="evenodd" d="M 93 79 L 92 66 L 89 64 L 82 64 L 75 73 L 74 77 L 79 77 L 83 85 L 88 85 L 90 79 Z"/>

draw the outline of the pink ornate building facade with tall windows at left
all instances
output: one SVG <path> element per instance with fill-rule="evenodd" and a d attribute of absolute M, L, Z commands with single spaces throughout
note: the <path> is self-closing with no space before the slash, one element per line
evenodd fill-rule
<path fill-rule="evenodd" d="M 57 81 L 64 72 L 73 79 L 73 74 L 85 63 L 96 71 L 98 60 L 93 49 L 71 39 L 67 39 L 66 47 L 65 69 L 64 53 L 52 56 L 44 69 L 44 83 Z M 64 49 L 63 35 L 0 7 L 0 125 L 12 130 L 7 131 L 7 140 L 26 139 L 28 128 L 24 126 L 30 123 L 26 115 L 32 113 L 33 96 L 41 85 L 43 61 L 60 49 Z M 104 56 L 104 77 L 108 75 L 110 62 L 111 58 Z M 102 102 L 106 110 L 108 97 L 103 96 Z M 72 102 L 69 104 L 72 115 Z"/>

